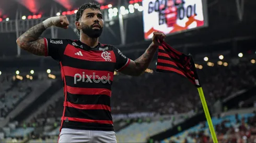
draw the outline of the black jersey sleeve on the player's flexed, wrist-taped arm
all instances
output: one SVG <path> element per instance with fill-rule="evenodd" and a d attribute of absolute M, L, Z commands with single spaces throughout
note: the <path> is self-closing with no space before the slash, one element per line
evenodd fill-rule
<path fill-rule="evenodd" d="M 54 60 L 61 61 L 64 55 L 68 40 L 43 38 L 45 56 L 51 56 Z"/>

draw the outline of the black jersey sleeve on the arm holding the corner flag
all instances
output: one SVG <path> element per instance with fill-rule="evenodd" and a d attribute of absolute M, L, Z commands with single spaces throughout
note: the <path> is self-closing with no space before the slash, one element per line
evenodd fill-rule
<path fill-rule="evenodd" d="M 117 48 L 113 46 L 113 51 L 116 58 L 115 69 L 117 71 L 122 71 L 125 67 L 127 67 L 130 63 L 130 59 L 123 55 L 123 53 Z"/>

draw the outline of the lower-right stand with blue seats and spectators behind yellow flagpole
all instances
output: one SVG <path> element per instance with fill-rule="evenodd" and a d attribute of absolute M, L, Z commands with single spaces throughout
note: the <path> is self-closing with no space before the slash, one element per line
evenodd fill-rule
<path fill-rule="evenodd" d="M 256 112 L 254 109 L 233 110 L 212 118 L 219 142 L 255 142 Z M 252 112 L 253 111 L 253 112 Z M 207 122 L 161 141 L 164 142 L 213 142 Z"/>

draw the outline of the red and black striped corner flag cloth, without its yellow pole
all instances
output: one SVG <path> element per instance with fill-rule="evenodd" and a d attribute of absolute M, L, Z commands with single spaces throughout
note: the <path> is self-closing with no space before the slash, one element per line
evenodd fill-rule
<path fill-rule="evenodd" d="M 162 41 L 158 48 L 157 72 L 178 73 L 201 87 L 192 55 L 185 55 Z"/>

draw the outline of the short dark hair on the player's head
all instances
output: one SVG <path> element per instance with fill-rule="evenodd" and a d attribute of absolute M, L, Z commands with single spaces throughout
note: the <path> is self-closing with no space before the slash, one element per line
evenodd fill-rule
<path fill-rule="evenodd" d="M 79 19 L 82 17 L 83 12 L 85 9 L 92 9 L 92 10 L 100 10 L 100 5 L 97 3 L 87 3 L 87 4 L 83 4 L 82 6 L 79 7 L 78 11 L 76 12 L 76 21 L 79 21 Z M 80 35 L 80 31 L 79 29 L 77 29 L 77 35 Z"/>

